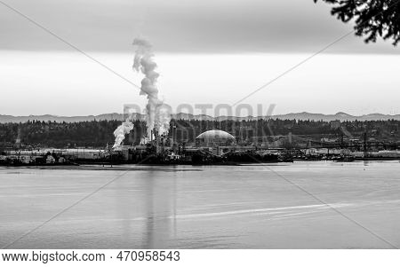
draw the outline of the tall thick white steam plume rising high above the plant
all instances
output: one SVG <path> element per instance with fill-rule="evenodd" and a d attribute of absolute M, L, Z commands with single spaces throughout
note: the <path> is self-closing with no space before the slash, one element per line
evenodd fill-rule
<path fill-rule="evenodd" d="M 163 108 L 163 101 L 158 98 L 156 86 L 159 74 L 156 72 L 156 62 L 153 60 L 151 44 L 144 39 L 136 38 L 133 45 L 137 46 L 133 69 L 141 71 L 145 77 L 141 80 L 140 95 L 148 97 L 146 105 L 147 137 L 151 137 L 151 131 L 156 129 L 158 135 L 168 134 L 171 115 Z"/>

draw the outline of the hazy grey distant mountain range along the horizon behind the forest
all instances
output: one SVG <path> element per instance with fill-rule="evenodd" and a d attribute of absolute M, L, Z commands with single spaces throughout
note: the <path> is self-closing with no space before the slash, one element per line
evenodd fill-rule
<path fill-rule="evenodd" d="M 100 114 L 97 116 L 89 115 L 89 116 L 56 116 L 56 115 L 29 115 L 29 116 L 12 116 L 12 115 L 1 115 L 0 114 L 0 123 L 6 122 L 28 122 L 33 120 L 38 121 L 52 121 L 52 122 L 90 122 L 90 121 L 122 121 L 124 118 L 123 114 Z M 132 114 L 133 119 L 144 120 L 143 114 Z M 234 120 L 234 121 L 242 121 L 242 120 L 257 120 L 261 118 L 267 118 L 267 116 L 258 116 L 258 117 L 236 117 L 236 116 L 218 116 L 212 117 L 209 115 L 194 115 L 194 114 L 172 114 L 172 118 L 174 119 L 184 119 L 184 120 L 200 120 L 200 121 L 225 121 L 225 120 Z M 331 122 L 339 120 L 341 122 L 344 121 L 388 121 L 388 120 L 400 120 L 400 114 L 396 115 L 387 115 L 387 114 L 366 114 L 361 116 L 353 116 L 345 113 L 337 113 L 337 114 L 310 114 L 307 112 L 296 113 L 296 114 L 280 114 L 280 115 L 272 115 L 270 116 L 272 119 L 281 119 L 281 120 L 310 120 L 310 121 L 325 121 Z"/>

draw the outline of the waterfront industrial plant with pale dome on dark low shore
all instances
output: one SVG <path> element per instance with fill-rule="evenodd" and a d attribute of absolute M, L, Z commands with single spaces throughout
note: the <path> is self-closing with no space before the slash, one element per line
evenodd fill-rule
<path fill-rule="evenodd" d="M 10 151 L 0 163 L 43 164 L 237 164 L 240 162 L 291 161 L 283 150 L 237 145 L 223 130 L 207 130 L 194 145 L 177 143 L 172 137 L 153 135 L 140 145 L 107 145 L 105 149 L 39 149 Z"/>

